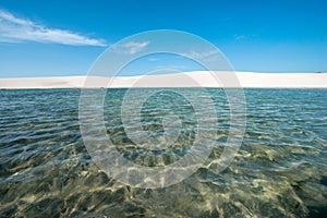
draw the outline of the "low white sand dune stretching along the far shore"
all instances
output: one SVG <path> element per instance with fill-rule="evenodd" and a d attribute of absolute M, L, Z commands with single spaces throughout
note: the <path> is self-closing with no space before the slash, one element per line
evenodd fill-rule
<path fill-rule="evenodd" d="M 253 73 L 237 72 L 242 87 L 327 88 L 327 73 Z M 22 88 L 81 88 L 86 76 L 0 78 L 2 89 Z M 223 81 L 223 85 L 217 82 Z M 109 77 L 88 77 L 86 87 L 108 87 Z M 228 72 L 186 72 L 146 76 L 121 76 L 110 87 L 235 87 Z M 85 86 L 84 86 L 85 87 Z"/>

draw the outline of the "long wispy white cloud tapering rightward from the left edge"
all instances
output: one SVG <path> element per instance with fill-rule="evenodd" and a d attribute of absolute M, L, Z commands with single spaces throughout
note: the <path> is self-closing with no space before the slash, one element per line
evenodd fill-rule
<path fill-rule="evenodd" d="M 0 43 L 51 43 L 71 46 L 106 46 L 101 39 L 94 39 L 70 31 L 49 28 L 12 13 L 0 10 Z"/>

